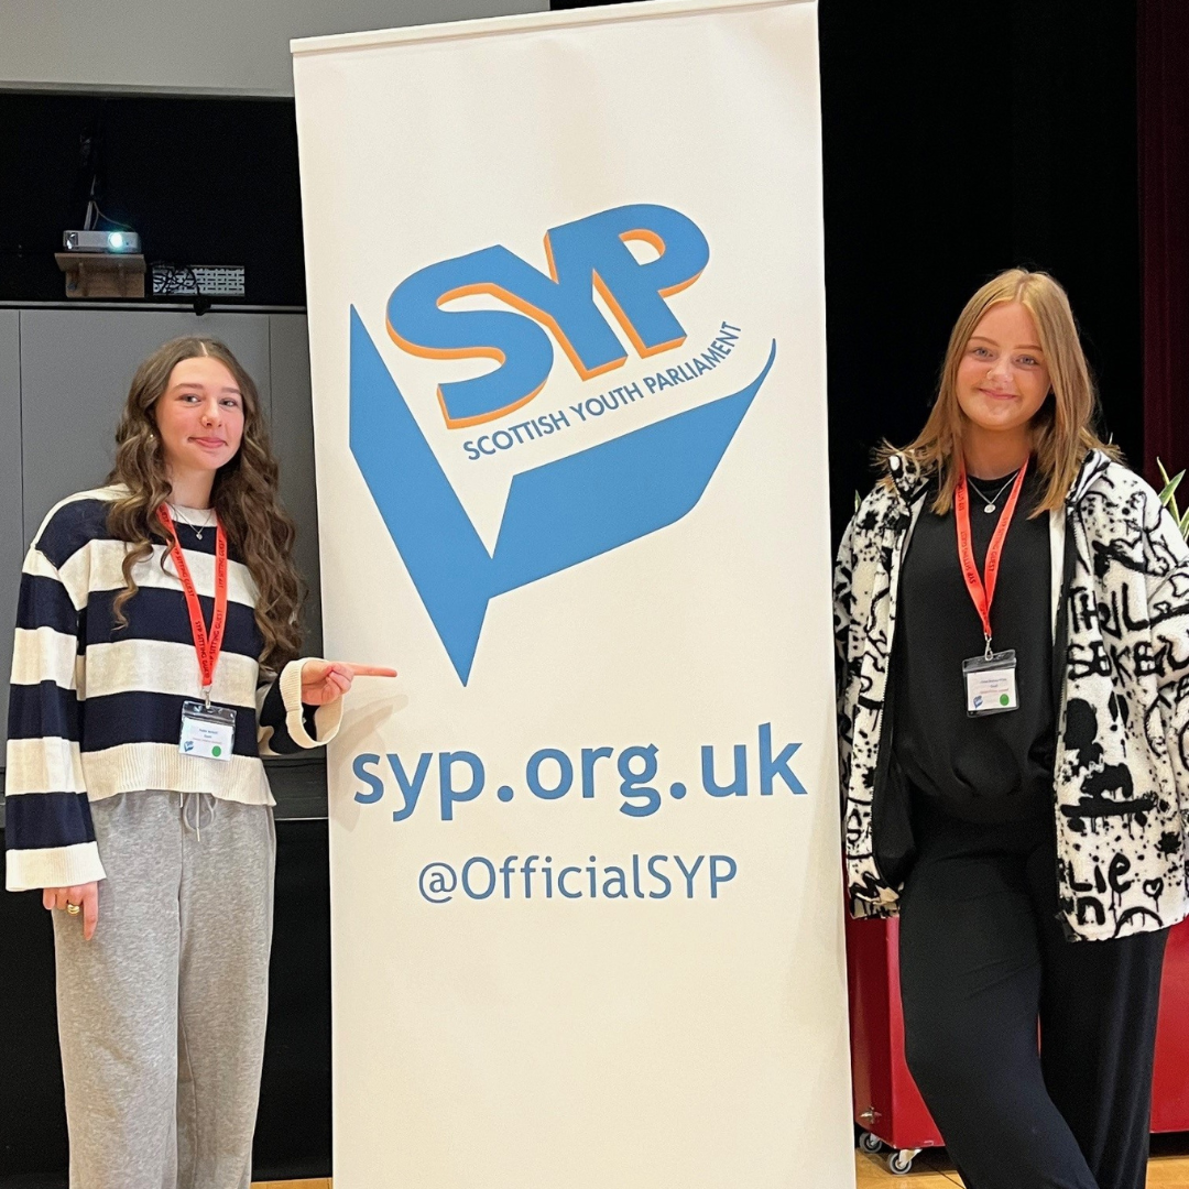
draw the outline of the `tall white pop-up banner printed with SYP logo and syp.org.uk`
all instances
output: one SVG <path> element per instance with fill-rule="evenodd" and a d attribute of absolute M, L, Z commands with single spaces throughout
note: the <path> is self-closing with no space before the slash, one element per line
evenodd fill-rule
<path fill-rule="evenodd" d="M 851 1185 L 813 4 L 294 76 L 335 1189 Z"/>

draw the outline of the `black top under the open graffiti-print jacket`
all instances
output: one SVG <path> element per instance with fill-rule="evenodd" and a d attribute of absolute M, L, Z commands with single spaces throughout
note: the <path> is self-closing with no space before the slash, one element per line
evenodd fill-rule
<path fill-rule="evenodd" d="M 976 479 L 993 496 L 1009 478 Z M 962 662 L 981 656 L 982 621 L 958 561 L 952 509 L 929 509 L 933 486 L 904 560 L 897 610 L 893 756 L 913 799 L 968 822 L 1018 822 L 1052 812 L 1056 730 L 1052 705 L 1052 603 L 1049 515 L 1028 520 L 1044 478 L 1028 467 L 1000 555 L 990 610 L 995 652 L 1015 649 L 1019 710 L 970 718 Z M 986 512 L 970 491 L 970 536 L 979 572 L 1011 487 Z"/>

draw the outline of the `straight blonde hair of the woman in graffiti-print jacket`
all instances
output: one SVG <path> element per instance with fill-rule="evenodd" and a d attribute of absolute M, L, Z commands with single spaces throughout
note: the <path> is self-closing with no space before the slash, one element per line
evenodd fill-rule
<path fill-rule="evenodd" d="M 967 421 L 958 404 L 958 363 L 983 315 L 1001 302 L 1019 302 L 1032 315 L 1052 384 L 1030 423 L 1037 467 L 1048 479 L 1044 498 L 1033 515 L 1061 508 L 1087 451 L 1101 449 L 1112 458 L 1120 457 L 1118 448 L 1103 442 L 1095 429 L 1097 395 L 1065 290 L 1046 272 L 1009 269 L 988 281 L 958 315 L 950 332 L 932 411 L 916 440 L 900 452 L 919 470 L 937 473 L 939 484 L 932 510 L 938 514 L 948 512 L 954 503 Z M 877 455 L 886 461 L 893 453 L 895 447 L 885 443 Z"/>

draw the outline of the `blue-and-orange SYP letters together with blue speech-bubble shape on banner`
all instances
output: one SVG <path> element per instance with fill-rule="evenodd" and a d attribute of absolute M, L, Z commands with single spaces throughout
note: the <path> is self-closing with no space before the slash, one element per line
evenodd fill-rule
<path fill-rule="evenodd" d="M 655 258 L 638 260 L 631 240 Z M 710 246 L 680 212 L 636 203 L 551 228 L 546 256 L 547 273 L 503 245 L 485 247 L 421 269 L 390 296 L 386 328 L 402 351 L 497 365 L 439 383 L 452 429 L 537 396 L 554 346 L 583 380 L 623 366 L 630 354 L 596 292 L 637 357 L 681 346 L 669 298 L 698 279 Z M 445 308 L 476 294 L 501 308 Z M 489 552 L 352 308 L 351 451 L 464 684 L 491 599 L 655 533 L 697 504 L 774 359 L 775 342 L 742 390 L 516 474 Z"/>

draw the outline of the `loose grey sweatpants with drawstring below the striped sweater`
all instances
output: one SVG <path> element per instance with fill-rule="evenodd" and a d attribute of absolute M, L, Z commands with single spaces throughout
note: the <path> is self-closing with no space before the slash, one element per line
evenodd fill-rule
<path fill-rule="evenodd" d="M 276 836 L 264 805 L 90 806 L 99 926 L 54 913 L 70 1189 L 247 1189 Z"/>

